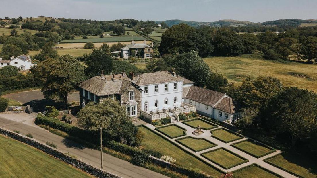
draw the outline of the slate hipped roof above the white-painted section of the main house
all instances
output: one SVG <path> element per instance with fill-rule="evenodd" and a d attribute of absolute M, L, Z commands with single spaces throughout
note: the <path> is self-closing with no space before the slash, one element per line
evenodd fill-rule
<path fill-rule="evenodd" d="M 173 76 L 171 73 L 166 73 L 166 71 L 159 71 L 137 75 L 135 84 L 143 86 L 176 81 L 183 81 L 183 79 Z"/>

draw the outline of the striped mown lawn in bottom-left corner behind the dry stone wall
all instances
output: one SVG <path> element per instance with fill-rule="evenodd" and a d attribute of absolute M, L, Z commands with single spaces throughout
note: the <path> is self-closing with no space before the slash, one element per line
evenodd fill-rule
<path fill-rule="evenodd" d="M 0 177 L 92 177 L 29 145 L 0 135 Z"/>

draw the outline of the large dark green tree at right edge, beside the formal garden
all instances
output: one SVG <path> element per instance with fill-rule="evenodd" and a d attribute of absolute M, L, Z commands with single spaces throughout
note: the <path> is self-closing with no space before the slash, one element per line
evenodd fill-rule
<path fill-rule="evenodd" d="M 279 133 L 287 133 L 294 146 L 317 129 L 317 95 L 288 87 L 272 97 L 262 113 L 266 124 Z"/>

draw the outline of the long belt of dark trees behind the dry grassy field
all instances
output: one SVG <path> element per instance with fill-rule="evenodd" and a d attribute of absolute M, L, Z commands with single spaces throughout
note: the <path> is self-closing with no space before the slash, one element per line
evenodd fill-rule
<path fill-rule="evenodd" d="M 317 26 L 288 28 L 281 33 L 237 34 L 232 28 L 174 25 L 161 36 L 161 54 L 181 54 L 191 50 L 199 56 L 239 56 L 260 51 L 270 60 L 317 61 Z"/>

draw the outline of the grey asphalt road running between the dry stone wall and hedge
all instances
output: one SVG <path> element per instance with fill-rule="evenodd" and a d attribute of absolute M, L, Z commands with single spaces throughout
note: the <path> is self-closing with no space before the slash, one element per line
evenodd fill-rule
<path fill-rule="evenodd" d="M 53 142 L 57 145 L 57 149 L 61 150 L 62 152 L 69 152 L 71 155 L 74 155 L 85 162 L 88 162 L 96 167 L 100 167 L 99 151 L 85 148 L 79 143 L 75 143 L 64 137 L 52 134 L 49 131 L 36 126 L 33 121 L 33 115 L 28 115 L 26 113 L 7 113 L 0 115 L 0 127 L 12 131 L 18 130 L 23 135 L 31 133 L 36 140 L 42 143 L 46 143 L 47 141 Z M 135 166 L 130 162 L 121 160 L 105 153 L 103 154 L 103 169 L 122 177 L 166 177 L 149 169 Z"/>

